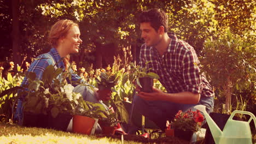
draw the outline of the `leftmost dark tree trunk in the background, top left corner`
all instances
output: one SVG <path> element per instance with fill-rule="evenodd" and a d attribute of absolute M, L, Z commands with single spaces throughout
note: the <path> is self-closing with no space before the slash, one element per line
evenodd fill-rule
<path fill-rule="evenodd" d="M 20 64 L 20 55 L 19 55 L 19 0 L 12 0 L 12 13 L 13 13 L 13 61 L 15 64 Z"/>

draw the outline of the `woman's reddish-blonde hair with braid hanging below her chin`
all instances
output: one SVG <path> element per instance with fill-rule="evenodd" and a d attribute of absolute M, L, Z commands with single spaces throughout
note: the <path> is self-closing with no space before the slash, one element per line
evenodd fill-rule
<path fill-rule="evenodd" d="M 48 40 L 49 40 L 49 43 L 51 44 L 51 46 L 56 48 L 58 45 L 58 40 L 60 38 L 65 38 L 67 36 L 69 30 L 73 26 L 79 27 L 77 23 L 74 23 L 71 20 L 60 20 L 60 21 L 57 21 L 56 23 L 54 23 L 54 25 L 51 26 L 51 30 L 50 30 L 49 36 L 48 36 Z M 70 65 L 69 59 L 70 59 L 69 55 L 63 59 L 66 70 Z"/>

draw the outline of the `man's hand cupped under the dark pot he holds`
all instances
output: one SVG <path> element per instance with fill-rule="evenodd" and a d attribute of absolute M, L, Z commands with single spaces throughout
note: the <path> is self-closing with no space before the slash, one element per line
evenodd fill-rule
<path fill-rule="evenodd" d="M 137 91 L 137 87 L 136 87 L 136 91 Z M 152 93 L 141 92 L 139 90 L 138 96 L 144 100 L 163 100 L 165 97 L 165 93 L 162 92 L 160 89 L 153 87 Z"/>

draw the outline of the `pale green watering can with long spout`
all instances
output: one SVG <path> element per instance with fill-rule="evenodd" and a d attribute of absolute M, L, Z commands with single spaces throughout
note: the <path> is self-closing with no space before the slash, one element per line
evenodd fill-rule
<path fill-rule="evenodd" d="M 218 125 L 213 121 L 213 119 L 208 115 L 205 110 L 204 105 L 196 105 L 195 109 L 200 110 L 203 115 L 205 115 L 207 124 L 211 130 L 213 139 L 216 144 L 235 144 L 235 143 L 252 143 L 252 133 L 250 129 L 249 123 L 254 120 L 254 124 L 256 125 L 256 118 L 253 113 L 248 111 L 234 111 L 231 113 L 231 116 L 226 122 L 226 125 L 222 130 L 219 129 Z M 245 115 L 251 116 L 248 122 L 236 121 L 232 119 L 236 113 L 241 113 Z"/>

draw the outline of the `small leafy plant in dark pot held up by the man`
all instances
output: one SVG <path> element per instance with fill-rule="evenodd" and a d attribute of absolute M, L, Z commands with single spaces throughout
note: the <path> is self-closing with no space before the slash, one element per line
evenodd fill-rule
<path fill-rule="evenodd" d="M 136 79 L 137 85 L 141 87 L 142 92 L 153 92 L 153 84 L 154 79 L 159 79 L 159 75 L 153 72 L 150 72 L 152 68 L 148 68 L 149 62 L 146 62 L 145 67 L 139 67 L 139 65 L 135 65 L 134 63 L 131 64 L 133 67 L 133 79 Z"/>

